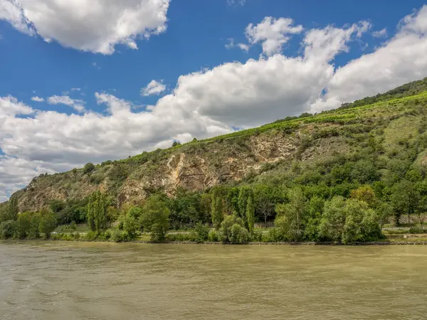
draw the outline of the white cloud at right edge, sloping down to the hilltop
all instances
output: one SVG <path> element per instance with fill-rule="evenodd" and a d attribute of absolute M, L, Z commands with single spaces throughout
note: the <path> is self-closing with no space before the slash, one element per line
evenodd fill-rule
<path fill-rule="evenodd" d="M 338 68 L 313 110 L 337 107 L 427 75 L 427 6 L 406 16 L 384 46 Z"/>

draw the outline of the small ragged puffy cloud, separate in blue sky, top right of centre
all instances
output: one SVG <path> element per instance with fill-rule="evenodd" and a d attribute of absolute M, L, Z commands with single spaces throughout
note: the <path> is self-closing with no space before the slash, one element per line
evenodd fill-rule
<path fill-rule="evenodd" d="M 253 23 L 246 27 L 246 37 L 251 44 L 261 43 L 263 53 L 273 55 L 280 53 L 290 34 L 301 33 L 302 26 L 292 26 L 291 18 L 273 18 L 267 16 L 256 26 Z"/>

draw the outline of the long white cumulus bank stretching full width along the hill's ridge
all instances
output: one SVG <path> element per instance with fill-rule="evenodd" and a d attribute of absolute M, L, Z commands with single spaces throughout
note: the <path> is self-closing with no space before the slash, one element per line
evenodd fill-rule
<path fill-rule="evenodd" d="M 175 139 L 187 142 L 232 132 L 233 127 L 318 112 L 423 78 L 425 21 L 427 6 L 402 19 L 396 35 L 373 53 L 340 68 L 334 58 L 369 31 L 367 23 L 308 30 L 300 55 L 276 53 L 181 75 L 169 95 L 142 112 L 106 92 L 95 92 L 97 103 L 105 107 L 102 114 L 89 109 L 84 114 L 46 112 L 15 97 L 0 97 L 0 148 L 6 154 L 0 159 L 0 167 L 6 168 L 0 181 L 5 172 L 11 181 L 0 186 L 0 197 L 39 172 L 125 158 L 169 146 Z"/>

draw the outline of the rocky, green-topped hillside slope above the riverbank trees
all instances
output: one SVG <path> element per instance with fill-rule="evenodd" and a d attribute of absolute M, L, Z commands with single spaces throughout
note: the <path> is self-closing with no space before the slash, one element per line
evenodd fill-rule
<path fill-rule="evenodd" d="M 53 200 L 80 201 L 97 190 L 122 207 L 157 191 L 173 196 L 179 187 L 204 191 L 230 183 L 296 183 L 341 193 L 374 181 L 391 187 L 410 169 L 425 172 L 426 90 L 427 78 L 337 110 L 105 161 L 93 170 L 41 175 L 14 197 L 26 211 Z"/>

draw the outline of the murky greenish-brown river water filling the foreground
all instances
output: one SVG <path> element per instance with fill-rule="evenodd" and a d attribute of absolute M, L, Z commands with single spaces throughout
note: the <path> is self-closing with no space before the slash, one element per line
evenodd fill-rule
<path fill-rule="evenodd" d="M 0 242 L 0 319 L 427 319 L 427 246 Z"/>

